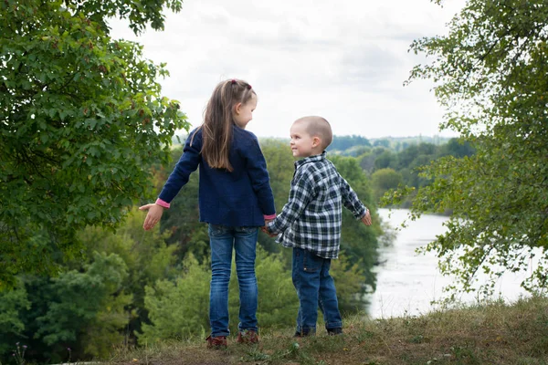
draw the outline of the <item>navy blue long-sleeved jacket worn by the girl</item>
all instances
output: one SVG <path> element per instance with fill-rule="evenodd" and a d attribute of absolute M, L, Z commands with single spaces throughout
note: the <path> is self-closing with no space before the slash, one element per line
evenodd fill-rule
<path fill-rule="evenodd" d="M 193 140 L 194 135 L 194 140 Z M 233 172 L 212 169 L 202 159 L 202 129 L 193 130 L 181 159 L 163 185 L 159 199 L 170 203 L 200 166 L 200 222 L 229 226 L 262 226 L 264 215 L 276 213 L 267 162 L 255 134 L 233 128 L 229 160 Z M 191 144 L 192 141 L 192 144 Z"/>

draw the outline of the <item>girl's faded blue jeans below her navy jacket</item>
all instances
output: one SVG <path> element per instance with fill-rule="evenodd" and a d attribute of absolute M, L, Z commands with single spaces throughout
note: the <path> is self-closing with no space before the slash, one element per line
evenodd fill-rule
<path fill-rule="evenodd" d="M 211 336 L 228 336 L 228 283 L 232 265 L 232 250 L 236 252 L 239 287 L 240 330 L 258 330 L 258 287 L 255 276 L 255 249 L 258 227 L 231 227 L 209 224 L 211 246 L 211 285 L 209 291 L 209 324 Z"/>

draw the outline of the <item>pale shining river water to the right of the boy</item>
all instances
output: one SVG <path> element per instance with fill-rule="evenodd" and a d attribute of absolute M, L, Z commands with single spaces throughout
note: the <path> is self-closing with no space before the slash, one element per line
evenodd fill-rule
<path fill-rule="evenodd" d="M 379 214 L 390 226 L 399 227 L 408 211 L 379 209 Z M 434 253 L 418 255 L 415 250 L 443 234 L 446 231 L 443 223 L 447 220 L 444 216 L 425 214 L 397 231 L 392 245 L 380 247 L 380 265 L 375 268 L 377 287 L 368 296 L 367 313 L 371 318 L 420 315 L 435 309 L 431 301 L 442 297 L 442 288 L 450 284 L 451 278 L 439 273 Z M 526 295 L 520 287 L 523 277 L 524 274 L 502 276 L 497 282 L 497 295 L 509 302 Z M 474 297 L 460 300 L 469 303 Z"/>

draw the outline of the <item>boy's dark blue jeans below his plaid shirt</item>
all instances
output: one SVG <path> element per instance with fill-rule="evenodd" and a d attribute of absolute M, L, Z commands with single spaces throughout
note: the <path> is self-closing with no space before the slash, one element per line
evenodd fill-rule
<path fill-rule="evenodd" d="M 318 307 L 323 313 L 325 328 L 342 328 L 335 282 L 329 274 L 330 258 L 314 255 L 301 248 L 293 248 L 293 285 L 299 297 L 297 332 L 314 334 L 318 320 Z"/>

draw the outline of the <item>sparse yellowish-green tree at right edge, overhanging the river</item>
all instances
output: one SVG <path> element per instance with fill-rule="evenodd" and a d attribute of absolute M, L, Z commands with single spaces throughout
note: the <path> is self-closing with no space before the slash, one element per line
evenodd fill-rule
<path fill-rule="evenodd" d="M 431 162 L 423 176 L 434 183 L 418 190 L 411 218 L 453 209 L 447 233 L 424 248 L 437 253 L 444 274 L 458 277 L 449 289 L 489 294 L 504 271 L 525 271 L 533 255 L 538 265 L 522 287 L 545 289 L 548 4 L 469 0 L 448 26 L 448 36 L 411 45 L 433 60 L 410 80 L 436 82 L 448 110 L 440 128 L 458 131 L 476 154 Z M 477 282 L 480 272 L 489 280 Z"/>

